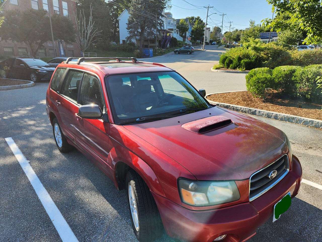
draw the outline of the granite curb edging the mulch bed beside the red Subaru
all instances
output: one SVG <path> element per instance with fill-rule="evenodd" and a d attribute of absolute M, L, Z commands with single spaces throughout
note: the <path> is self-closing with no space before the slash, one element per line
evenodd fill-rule
<path fill-rule="evenodd" d="M 236 91 L 233 91 L 233 92 L 236 92 Z M 221 92 L 221 93 L 229 93 L 229 92 Z M 211 94 L 208 94 L 207 96 L 210 96 L 212 94 L 219 94 L 219 93 L 211 93 Z M 206 99 L 207 99 L 207 96 L 206 96 Z M 262 116 L 266 118 L 273 118 L 273 119 L 282 120 L 290 123 L 301 124 L 309 127 L 322 128 L 322 121 L 317 119 L 294 116 L 289 114 L 282 114 L 282 113 L 266 111 L 262 109 L 251 108 L 251 107 L 237 106 L 237 105 L 227 104 L 227 103 L 218 103 L 218 102 L 211 101 L 209 99 L 207 99 L 207 101 L 211 104 L 215 104 L 217 106 L 224 107 L 237 112 Z"/>

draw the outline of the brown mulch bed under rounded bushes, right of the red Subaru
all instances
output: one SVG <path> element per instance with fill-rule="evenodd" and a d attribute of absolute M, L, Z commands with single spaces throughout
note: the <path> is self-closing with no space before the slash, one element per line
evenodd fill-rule
<path fill-rule="evenodd" d="M 249 91 L 213 94 L 207 96 L 207 99 L 218 103 L 227 103 L 322 120 L 322 102 L 288 99 L 273 90 L 270 91 L 265 100 L 252 96 Z"/>

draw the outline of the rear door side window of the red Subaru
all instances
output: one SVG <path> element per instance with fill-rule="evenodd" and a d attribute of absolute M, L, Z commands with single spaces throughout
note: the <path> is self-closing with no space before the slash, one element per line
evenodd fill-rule
<path fill-rule="evenodd" d="M 77 101 L 78 88 L 83 73 L 80 71 L 70 71 L 67 75 L 62 94 Z"/>

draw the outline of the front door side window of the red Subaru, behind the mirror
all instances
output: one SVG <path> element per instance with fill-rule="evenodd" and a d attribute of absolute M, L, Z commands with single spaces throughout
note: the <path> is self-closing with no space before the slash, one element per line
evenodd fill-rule
<path fill-rule="evenodd" d="M 83 76 L 79 98 L 80 105 L 97 104 L 101 110 L 104 109 L 104 99 L 99 79 L 87 73 Z"/>

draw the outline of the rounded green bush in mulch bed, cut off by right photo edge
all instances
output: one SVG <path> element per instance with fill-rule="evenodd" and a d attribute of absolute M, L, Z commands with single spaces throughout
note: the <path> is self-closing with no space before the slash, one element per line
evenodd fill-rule
<path fill-rule="evenodd" d="M 317 89 L 316 84 L 317 77 L 321 75 L 322 65 L 310 65 L 298 68 L 293 76 L 298 94 L 311 100 L 321 99 L 322 95 Z"/>

